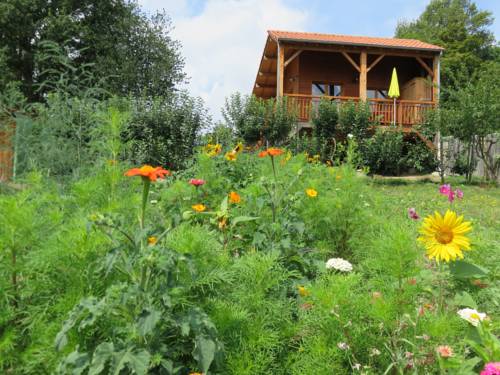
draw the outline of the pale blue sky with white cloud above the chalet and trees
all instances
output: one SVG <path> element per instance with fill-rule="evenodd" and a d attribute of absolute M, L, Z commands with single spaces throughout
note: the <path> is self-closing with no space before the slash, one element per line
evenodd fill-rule
<path fill-rule="evenodd" d="M 205 101 L 214 121 L 234 92 L 250 94 L 267 30 L 392 37 L 398 21 L 417 18 L 429 0 L 138 0 L 165 10 L 182 44 L 184 84 Z M 476 0 L 500 18 L 500 0 Z M 500 40 L 500 19 L 492 27 Z"/>

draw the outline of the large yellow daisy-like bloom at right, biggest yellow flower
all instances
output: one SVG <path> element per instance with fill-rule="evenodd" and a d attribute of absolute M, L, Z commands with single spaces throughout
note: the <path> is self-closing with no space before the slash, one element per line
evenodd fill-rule
<path fill-rule="evenodd" d="M 425 218 L 418 240 L 427 249 L 429 259 L 449 262 L 464 257 L 462 250 L 470 250 L 470 241 L 465 234 L 472 230 L 472 226 L 469 221 L 463 220 L 463 216 L 457 216 L 450 210 L 446 211 L 444 217 L 435 212 L 434 216 Z"/>

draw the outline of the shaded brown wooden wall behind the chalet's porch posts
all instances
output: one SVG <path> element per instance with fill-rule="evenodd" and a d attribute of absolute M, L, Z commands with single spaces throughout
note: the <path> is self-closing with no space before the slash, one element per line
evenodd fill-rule
<path fill-rule="evenodd" d="M 359 54 L 350 54 L 359 63 Z M 377 55 L 368 55 L 368 65 Z M 294 62 L 298 63 L 293 67 Z M 359 73 L 337 52 L 304 51 L 288 65 L 285 78 L 299 74 L 296 86 L 285 84 L 285 93 L 311 95 L 312 82 L 329 82 L 342 85 L 342 96 L 359 96 Z M 424 69 L 413 57 L 385 56 L 369 73 L 367 89 L 389 89 L 392 68 L 396 67 L 400 87 L 414 77 L 425 76 Z M 293 91 L 292 91 L 293 90 Z"/>

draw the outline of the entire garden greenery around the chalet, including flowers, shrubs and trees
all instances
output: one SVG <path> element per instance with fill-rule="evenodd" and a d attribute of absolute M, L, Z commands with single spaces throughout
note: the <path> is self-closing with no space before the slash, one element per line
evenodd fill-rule
<path fill-rule="evenodd" d="M 214 121 L 135 2 L 0 4 L 0 373 L 500 374 L 500 54 L 451 3 L 396 30 L 447 47 L 440 152 L 363 103 Z"/>

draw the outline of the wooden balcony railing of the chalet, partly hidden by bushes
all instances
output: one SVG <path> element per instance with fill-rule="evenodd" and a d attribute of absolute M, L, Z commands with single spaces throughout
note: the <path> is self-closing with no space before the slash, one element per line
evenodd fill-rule
<path fill-rule="evenodd" d="M 354 96 L 313 96 L 301 94 L 285 94 L 290 106 L 297 111 L 299 121 L 309 122 L 311 113 L 318 107 L 321 98 L 332 100 L 339 105 L 348 102 L 358 102 Z M 371 120 L 382 125 L 394 123 L 394 100 L 368 99 L 371 110 Z M 416 125 L 422 123 L 427 111 L 435 107 L 435 102 L 421 100 L 396 100 L 396 124 Z"/>

